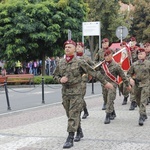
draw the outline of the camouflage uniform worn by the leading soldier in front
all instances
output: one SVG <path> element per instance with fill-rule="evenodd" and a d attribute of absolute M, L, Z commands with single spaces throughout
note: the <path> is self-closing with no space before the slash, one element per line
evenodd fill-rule
<path fill-rule="evenodd" d="M 62 84 L 63 106 L 68 117 L 68 132 L 76 132 L 80 126 L 80 113 L 83 108 L 82 75 L 88 73 L 106 84 L 103 75 L 94 71 L 85 61 L 74 57 L 70 62 L 60 59 L 54 72 L 54 79 L 60 82 L 61 77 L 67 76 L 67 83 Z"/>

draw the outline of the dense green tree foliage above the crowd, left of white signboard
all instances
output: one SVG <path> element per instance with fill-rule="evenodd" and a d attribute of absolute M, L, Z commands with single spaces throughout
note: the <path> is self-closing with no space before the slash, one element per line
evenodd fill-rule
<path fill-rule="evenodd" d="M 0 58 L 41 59 L 62 53 L 68 29 L 81 39 L 83 0 L 7 0 L 0 4 Z M 44 62 L 44 61 L 43 61 Z"/>

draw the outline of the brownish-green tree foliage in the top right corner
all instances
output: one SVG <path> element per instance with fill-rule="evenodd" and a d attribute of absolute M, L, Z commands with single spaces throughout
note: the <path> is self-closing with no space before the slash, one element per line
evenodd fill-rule
<path fill-rule="evenodd" d="M 140 5 L 139 5 L 140 4 Z M 150 41 L 150 2 L 149 0 L 135 0 L 131 35 L 138 42 Z"/>

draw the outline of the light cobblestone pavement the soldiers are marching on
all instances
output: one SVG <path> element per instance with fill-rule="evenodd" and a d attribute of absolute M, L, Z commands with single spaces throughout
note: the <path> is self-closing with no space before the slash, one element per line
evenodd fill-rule
<path fill-rule="evenodd" d="M 138 108 L 121 105 L 117 117 L 104 124 L 102 96 L 86 99 L 89 117 L 82 119 L 84 138 L 71 150 L 150 150 L 150 105 L 144 126 L 138 125 Z M 67 118 L 61 104 L 0 116 L 0 150 L 62 150 L 67 137 Z"/>

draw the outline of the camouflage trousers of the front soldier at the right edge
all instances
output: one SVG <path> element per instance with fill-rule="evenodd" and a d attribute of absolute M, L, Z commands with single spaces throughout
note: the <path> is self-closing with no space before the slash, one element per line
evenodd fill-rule
<path fill-rule="evenodd" d="M 135 99 L 136 99 L 137 105 L 139 107 L 139 113 L 141 115 L 145 115 L 146 114 L 146 103 L 147 103 L 147 99 L 149 97 L 149 88 L 148 88 L 148 86 L 138 87 L 138 85 L 135 84 L 134 93 L 135 93 Z"/>

